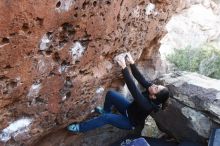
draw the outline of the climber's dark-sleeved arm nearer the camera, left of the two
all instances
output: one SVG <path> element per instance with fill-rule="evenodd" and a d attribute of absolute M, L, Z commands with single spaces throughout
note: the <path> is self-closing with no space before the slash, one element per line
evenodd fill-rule
<path fill-rule="evenodd" d="M 128 86 L 131 95 L 133 96 L 134 100 L 138 103 L 138 105 L 144 109 L 145 111 L 151 111 L 154 109 L 154 106 L 150 103 L 150 101 L 141 94 L 141 91 L 137 88 L 134 81 L 131 78 L 131 75 L 128 71 L 128 68 L 122 69 L 122 74 L 124 76 L 125 83 Z"/>

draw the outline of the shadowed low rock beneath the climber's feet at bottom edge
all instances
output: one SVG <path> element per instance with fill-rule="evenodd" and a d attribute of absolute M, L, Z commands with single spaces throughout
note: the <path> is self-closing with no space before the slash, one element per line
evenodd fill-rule
<path fill-rule="evenodd" d="M 73 135 L 64 129 L 55 131 L 48 137 L 36 143 L 36 146 L 107 146 L 115 140 L 125 137 L 127 134 L 135 134 L 134 131 L 123 131 L 107 125 L 84 134 Z M 117 135 L 117 136 L 116 136 Z"/>

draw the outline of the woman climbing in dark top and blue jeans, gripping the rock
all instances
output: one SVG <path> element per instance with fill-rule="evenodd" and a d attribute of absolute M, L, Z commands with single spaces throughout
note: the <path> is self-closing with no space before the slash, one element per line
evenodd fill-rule
<path fill-rule="evenodd" d="M 131 72 L 135 79 L 146 89 L 143 93 L 136 87 L 131 78 L 125 59 L 130 63 Z M 106 124 L 120 129 L 132 130 L 137 126 L 143 126 L 146 117 L 152 111 L 158 111 L 160 108 L 165 109 L 169 98 L 169 91 L 166 87 L 148 82 L 135 66 L 130 53 L 119 56 L 116 61 L 122 67 L 125 83 L 134 101 L 130 103 L 118 92 L 110 90 L 106 94 L 104 107 L 96 107 L 95 109 L 96 112 L 100 113 L 100 116 L 85 122 L 70 124 L 67 127 L 69 131 L 74 133 L 86 132 Z M 120 114 L 111 113 L 113 106 Z"/>

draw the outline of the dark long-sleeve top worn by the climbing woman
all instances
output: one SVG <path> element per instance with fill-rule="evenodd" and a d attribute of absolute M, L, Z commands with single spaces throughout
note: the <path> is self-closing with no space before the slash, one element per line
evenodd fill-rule
<path fill-rule="evenodd" d="M 131 92 L 131 95 L 134 98 L 134 101 L 128 107 L 128 118 L 129 120 L 136 125 L 143 125 L 146 117 L 154 110 L 157 110 L 158 106 L 155 105 L 149 98 L 148 88 L 152 83 L 148 82 L 140 71 L 137 69 L 135 64 L 131 64 L 131 72 L 135 79 L 146 88 L 145 92 L 141 92 L 135 85 L 128 68 L 122 70 L 125 83 Z"/>

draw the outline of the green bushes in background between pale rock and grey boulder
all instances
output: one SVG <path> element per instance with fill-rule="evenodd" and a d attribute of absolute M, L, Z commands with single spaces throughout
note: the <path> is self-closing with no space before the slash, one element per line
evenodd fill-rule
<path fill-rule="evenodd" d="M 167 55 L 166 58 L 179 70 L 198 72 L 220 79 L 220 50 L 211 45 L 175 49 L 174 53 Z"/>

